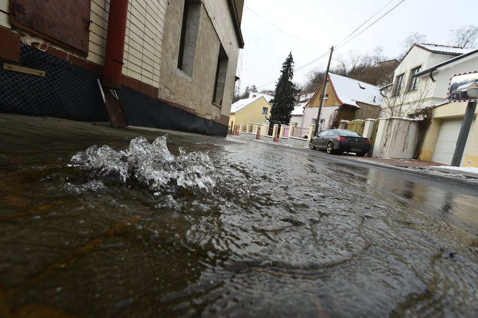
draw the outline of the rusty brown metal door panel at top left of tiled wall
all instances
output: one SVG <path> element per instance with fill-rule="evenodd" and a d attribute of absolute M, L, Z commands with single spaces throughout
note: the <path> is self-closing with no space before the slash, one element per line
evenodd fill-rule
<path fill-rule="evenodd" d="M 88 53 L 91 0 L 10 0 L 10 23 Z"/>

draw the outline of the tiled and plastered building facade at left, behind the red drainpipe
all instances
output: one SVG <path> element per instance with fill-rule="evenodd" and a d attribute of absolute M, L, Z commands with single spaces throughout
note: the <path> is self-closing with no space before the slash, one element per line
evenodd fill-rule
<path fill-rule="evenodd" d="M 128 124 L 227 134 L 243 0 L 50 2 L 0 0 L 0 112 L 109 121 L 98 80 L 111 88 L 108 29 L 120 11 L 114 95 Z"/>

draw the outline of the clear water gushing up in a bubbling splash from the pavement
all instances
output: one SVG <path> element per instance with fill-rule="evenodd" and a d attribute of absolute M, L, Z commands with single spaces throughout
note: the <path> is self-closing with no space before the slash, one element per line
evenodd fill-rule
<path fill-rule="evenodd" d="M 167 135 L 152 144 L 144 137 L 131 139 L 127 150 L 115 151 L 107 145 L 91 146 L 71 158 L 71 166 L 87 173 L 88 179 L 137 183 L 149 188 L 155 196 L 186 191 L 195 195 L 213 194 L 216 168 L 204 152 L 187 153 L 179 148 L 174 157 L 166 145 Z"/>

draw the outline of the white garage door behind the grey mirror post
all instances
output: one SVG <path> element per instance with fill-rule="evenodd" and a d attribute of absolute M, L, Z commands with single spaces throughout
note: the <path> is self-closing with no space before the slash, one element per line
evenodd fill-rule
<path fill-rule="evenodd" d="M 432 161 L 451 164 L 453 159 L 453 153 L 455 152 L 456 141 L 458 140 L 458 135 L 461 129 L 461 121 L 463 118 L 458 119 L 446 119 L 441 122 L 440 132 L 438 133 L 438 138 L 436 139 L 435 150 L 433 152 Z M 470 134 L 473 131 L 475 126 L 475 119 L 471 124 Z M 461 164 L 463 163 L 463 158 L 465 158 L 466 150 L 468 149 L 468 141 L 466 140 L 465 151 L 463 151 L 463 157 L 461 158 Z M 460 165 L 461 165 L 460 164 Z"/>

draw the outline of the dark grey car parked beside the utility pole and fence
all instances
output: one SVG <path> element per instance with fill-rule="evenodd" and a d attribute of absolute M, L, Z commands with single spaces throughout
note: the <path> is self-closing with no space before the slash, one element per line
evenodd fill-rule
<path fill-rule="evenodd" d="M 313 136 L 309 148 L 325 149 L 327 154 L 354 152 L 357 156 L 364 157 L 370 150 L 370 140 L 351 130 L 329 129 Z"/>

